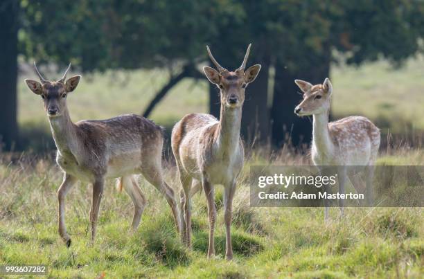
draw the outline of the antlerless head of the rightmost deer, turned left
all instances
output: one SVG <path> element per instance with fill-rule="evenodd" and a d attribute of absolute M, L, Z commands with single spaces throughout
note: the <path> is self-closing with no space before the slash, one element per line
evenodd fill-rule
<path fill-rule="evenodd" d="M 326 78 L 323 84 L 312 85 L 303 80 L 294 80 L 303 92 L 303 100 L 294 109 L 298 116 L 310 116 L 312 114 L 323 114 L 330 109 L 331 92 L 333 86 Z"/>

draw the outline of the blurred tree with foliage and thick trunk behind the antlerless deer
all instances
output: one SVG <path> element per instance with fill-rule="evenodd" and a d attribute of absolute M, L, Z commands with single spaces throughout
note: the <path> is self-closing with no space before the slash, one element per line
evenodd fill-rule
<path fill-rule="evenodd" d="M 266 57 L 275 69 L 270 120 L 276 144 L 308 144 L 312 136 L 308 119 L 293 113 L 301 100 L 294 79 L 323 82 L 329 76 L 331 62 L 337 62 L 336 52 L 342 53 L 348 64 L 385 58 L 398 66 L 422 46 L 423 1 L 243 3 L 248 15 L 244 25 L 254 31 L 246 32 L 251 32 L 252 41 L 260 42 L 262 53 L 258 56 Z"/>

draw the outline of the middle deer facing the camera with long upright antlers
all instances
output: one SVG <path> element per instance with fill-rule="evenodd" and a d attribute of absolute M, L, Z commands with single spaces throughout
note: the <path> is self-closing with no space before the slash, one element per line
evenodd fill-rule
<path fill-rule="evenodd" d="M 204 66 L 203 71 L 209 82 L 220 89 L 220 119 L 210 114 L 188 114 L 175 124 L 171 135 L 177 172 L 182 183 L 182 242 L 188 247 L 191 246 L 191 197 L 202 188 L 209 217 L 208 258 L 215 255 L 215 184 L 224 186 L 225 256 L 227 260 L 233 258 L 230 231 L 232 201 L 245 156 L 240 138 L 242 105 L 247 85 L 256 79 L 260 71 L 259 64 L 245 71 L 250 47 L 251 44 L 247 47 L 241 66 L 235 71 L 228 71 L 220 66 L 209 46 L 206 46 L 206 51 L 218 71 L 209 66 Z"/>

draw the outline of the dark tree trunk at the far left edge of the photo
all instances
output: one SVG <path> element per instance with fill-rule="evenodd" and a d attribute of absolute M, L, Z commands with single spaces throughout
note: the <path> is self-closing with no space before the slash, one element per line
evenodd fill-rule
<path fill-rule="evenodd" d="M 17 30 L 19 1 L 0 4 L 0 143 L 12 150 L 17 129 Z M 1 147 L 0 147 L 1 150 Z"/>

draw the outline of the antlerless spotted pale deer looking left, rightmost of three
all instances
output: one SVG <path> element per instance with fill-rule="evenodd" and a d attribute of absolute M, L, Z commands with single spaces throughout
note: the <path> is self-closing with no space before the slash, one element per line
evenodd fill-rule
<path fill-rule="evenodd" d="M 366 186 L 351 177 L 357 192 L 365 190 L 366 202 L 373 200 L 373 165 L 380 147 L 380 129 L 364 116 L 348 116 L 328 123 L 333 85 L 326 78 L 323 84 L 312 85 L 303 80 L 294 80 L 303 92 L 303 100 L 294 109 L 298 116 L 311 116 L 312 147 L 311 156 L 314 165 L 323 171 L 325 165 L 337 166 L 339 193 L 344 194 L 346 180 L 351 174 L 348 165 L 366 166 Z M 364 189 L 365 188 L 365 189 Z M 324 199 L 324 220 L 328 222 L 328 200 Z M 344 200 L 339 199 L 340 216 L 344 215 Z"/>

